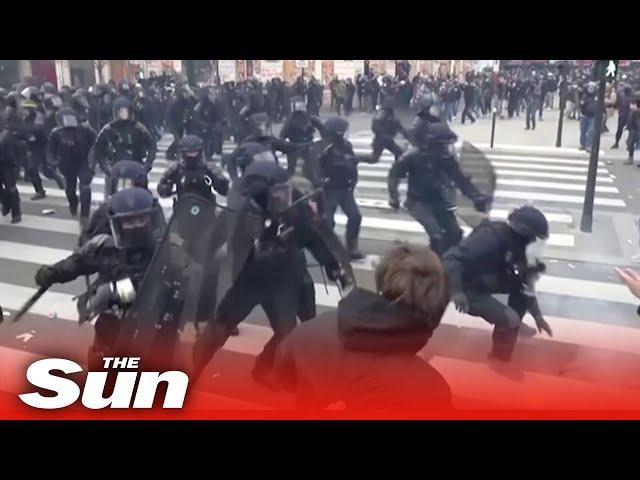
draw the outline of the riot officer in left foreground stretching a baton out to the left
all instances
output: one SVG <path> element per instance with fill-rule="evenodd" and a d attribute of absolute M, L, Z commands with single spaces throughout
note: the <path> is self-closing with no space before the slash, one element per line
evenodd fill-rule
<path fill-rule="evenodd" d="M 89 291 L 78 299 L 80 319 L 95 315 L 95 336 L 89 348 L 89 369 L 101 369 L 102 359 L 114 352 L 127 309 L 153 257 L 158 224 L 164 222 L 147 190 L 131 188 L 109 201 L 110 234 L 91 238 L 69 257 L 38 269 L 39 287 L 67 283 L 82 275 L 98 274 Z"/>

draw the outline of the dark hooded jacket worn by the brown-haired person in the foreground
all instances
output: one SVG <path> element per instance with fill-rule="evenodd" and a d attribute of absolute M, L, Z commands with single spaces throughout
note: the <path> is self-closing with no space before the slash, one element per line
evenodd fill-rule
<path fill-rule="evenodd" d="M 399 303 L 362 289 L 338 310 L 296 327 L 279 346 L 274 372 L 317 411 L 343 402 L 349 413 L 425 416 L 448 411 L 446 380 L 416 356 L 432 329 Z"/>

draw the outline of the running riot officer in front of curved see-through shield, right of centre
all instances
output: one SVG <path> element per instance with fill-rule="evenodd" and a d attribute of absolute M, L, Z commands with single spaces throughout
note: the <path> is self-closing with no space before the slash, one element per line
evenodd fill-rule
<path fill-rule="evenodd" d="M 389 170 L 389 205 L 400 208 L 398 185 L 408 176 L 405 207 L 429 234 L 431 249 L 442 256 L 462 238 L 454 214 L 456 189 L 480 211 L 487 209 L 489 199 L 460 170 L 453 150 L 457 136 L 445 122 L 418 117 L 410 136 L 415 148 Z"/>

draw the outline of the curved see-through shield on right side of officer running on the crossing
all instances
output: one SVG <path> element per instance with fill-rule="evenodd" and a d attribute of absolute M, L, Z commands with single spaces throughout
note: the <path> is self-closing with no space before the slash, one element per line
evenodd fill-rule
<path fill-rule="evenodd" d="M 458 163 L 463 175 L 471 180 L 480 193 L 488 197 L 488 212 L 496 190 L 496 173 L 491 160 L 471 143 L 463 142 L 458 150 Z M 456 204 L 458 216 L 470 227 L 476 227 L 488 216 L 488 213 L 478 212 L 473 201 L 463 195 L 457 196 Z"/>

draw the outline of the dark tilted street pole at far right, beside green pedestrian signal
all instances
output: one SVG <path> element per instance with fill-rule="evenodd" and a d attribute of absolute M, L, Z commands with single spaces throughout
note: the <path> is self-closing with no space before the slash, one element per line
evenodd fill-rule
<path fill-rule="evenodd" d="M 593 119 L 593 142 L 591 144 L 591 156 L 589 158 L 589 171 L 587 174 L 587 186 L 582 207 L 582 220 L 580 230 L 591 232 L 593 228 L 593 201 L 596 189 L 596 175 L 598 172 L 598 156 L 600 154 L 600 134 L 602 133 L 602 115 L 604 113 L 604 90 L 606 86 L 605 61 L 596 60 L 595 78 L 599 79 L 596 114 Z"/>

